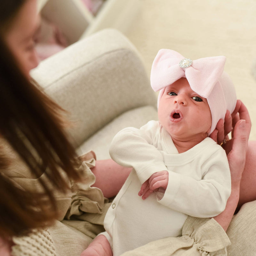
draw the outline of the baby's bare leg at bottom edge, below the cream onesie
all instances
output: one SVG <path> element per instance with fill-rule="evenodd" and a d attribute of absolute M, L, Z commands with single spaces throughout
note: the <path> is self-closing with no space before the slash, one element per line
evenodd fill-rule
<path fill-rule="evenodd" d="M 81 256 L 113 256 L 113 252 L 106 236 L 100 235 L 89 244 Z"/>

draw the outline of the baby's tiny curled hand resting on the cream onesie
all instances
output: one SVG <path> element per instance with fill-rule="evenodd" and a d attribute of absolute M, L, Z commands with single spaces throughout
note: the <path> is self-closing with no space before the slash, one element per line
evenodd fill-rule
<path fill-rule="evenodd" d="M 139 196 L 145 200 L 152 192 L 158 191 L 159 188 L 167 188 L 169 174 L 167 171 L 156 172 L 146 180 L 140 188 Z"/>

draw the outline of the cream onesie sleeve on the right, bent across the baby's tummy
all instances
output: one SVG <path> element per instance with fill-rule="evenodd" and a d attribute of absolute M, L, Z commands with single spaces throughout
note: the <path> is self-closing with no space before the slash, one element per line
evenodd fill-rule
<path fill-rule="evenodd" d="M 225 151 L 220 148 L 202 165 L 202 180 L 169 171 L 164 196 L 158 202 L 199 218 L 214 217 L 224 211 L 231 193 L 231 177 Z"/>

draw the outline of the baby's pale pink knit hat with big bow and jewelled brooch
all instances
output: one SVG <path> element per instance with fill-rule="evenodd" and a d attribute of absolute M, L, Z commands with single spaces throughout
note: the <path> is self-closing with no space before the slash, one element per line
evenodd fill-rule
<path fill-rule="evenodd" d="M 157 105 L 166 86 L 181 77 L 187 78 L 191 89 L 208 101 L 212 115 L 210 135 L 220 118 L 225 118 L 226 111 L 232 113 L 236 107 L 235 86 L 224 72 L 225 61 L 225 56 L 192 61 L 173 50 L 161 49 L 153 61 L 150 76 L 153 90 L 160 91 Z"/>

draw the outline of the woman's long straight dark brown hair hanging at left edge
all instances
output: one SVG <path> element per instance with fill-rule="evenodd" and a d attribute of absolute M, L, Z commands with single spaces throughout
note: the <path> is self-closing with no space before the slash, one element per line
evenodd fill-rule
<path fill-rule="evenodd" d="M 8 25 L 25 0 L 2 1 L 0 27 Z M 2 27 L 3 28 L 3 27 Z M 1 29 L 2 30 L 2 29 Z M 75 149 L 61 123 L 62 109 L 21 72 L 15 56 L 0 33 L 0 136 L 3 137 L 41 182 L 43 193 L 24 191 L 3 175 L 8 156 L 0 151 L 0 236 L 25 234 L 52 223 L 57 217 L 52 187 L 68 188 L 63 171 L 78 179 Z M 17 170 L 19 171 L 19 170 Z"/>

